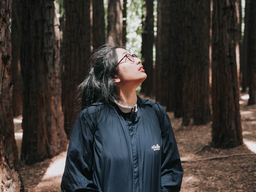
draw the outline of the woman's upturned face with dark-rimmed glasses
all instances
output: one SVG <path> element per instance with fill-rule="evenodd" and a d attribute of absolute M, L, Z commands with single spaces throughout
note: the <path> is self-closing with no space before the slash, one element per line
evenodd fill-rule
<path fill-rule="evenodd" d="M 118 61 L 121 61 L 118 65 L 118 70 L 121 77 L 118 79 L 120 80 L 121 84 L 134 84 L 135 86 L 138 86 L 147 78 L 147 74 L 145 73 L 139 58 L 133 57 L 133 62 L 125 57 L 126 54 L 131 53 L 122 48 L 116 49 Z"/>

